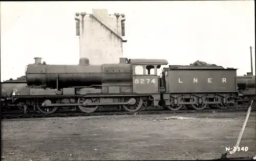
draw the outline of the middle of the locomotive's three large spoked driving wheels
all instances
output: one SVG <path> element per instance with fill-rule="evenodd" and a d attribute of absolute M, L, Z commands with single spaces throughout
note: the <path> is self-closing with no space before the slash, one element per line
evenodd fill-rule
<path fill-rule="evenodd" d="M 99 103 L 98 98 L 78 98 L 78 103 Z M 98 105 L 78 105 L 78 108 L 83 113 L 93 113 L 98 109 Z"/>

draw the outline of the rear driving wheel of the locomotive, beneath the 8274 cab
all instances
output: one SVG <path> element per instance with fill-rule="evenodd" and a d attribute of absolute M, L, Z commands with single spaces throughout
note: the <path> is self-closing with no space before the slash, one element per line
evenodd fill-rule
<path fill-rule="evenodd" d="M 134 98 L 129 98 L 129 97 L 125 97 L 122 98 L 122 102 L 129 102 L 129 101 L 135 101 L 134 104 L 122 104 L 122 108 L 125 111 L 128 112 L 136 112 L 139 111 L 141 106 L 143 105 L 143 100 L 141 97 L 134 97 Z"/>

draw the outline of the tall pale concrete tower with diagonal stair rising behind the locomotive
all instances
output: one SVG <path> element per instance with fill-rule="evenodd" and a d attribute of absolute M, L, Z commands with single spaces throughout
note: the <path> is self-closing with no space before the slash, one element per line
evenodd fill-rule
<path fill-rule="evenodd" d="M 92 14 L 76 13 L 76 35 L 79 36 L 80 58 L 90 64 L 119 63 L 125 35 L 124 14 L 108 14 L 107 9 L 93 9 Z"/>

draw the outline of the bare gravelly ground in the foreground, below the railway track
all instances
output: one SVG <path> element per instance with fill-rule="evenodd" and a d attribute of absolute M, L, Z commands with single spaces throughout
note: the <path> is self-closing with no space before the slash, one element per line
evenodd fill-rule
<path fill-rule="evenodd" d="M 220 158 L 246 113 L 159 114 L 2 121 L 3 160 L 159 160 Z M 255 112 L 234 156 L 255 156 Z"/>

